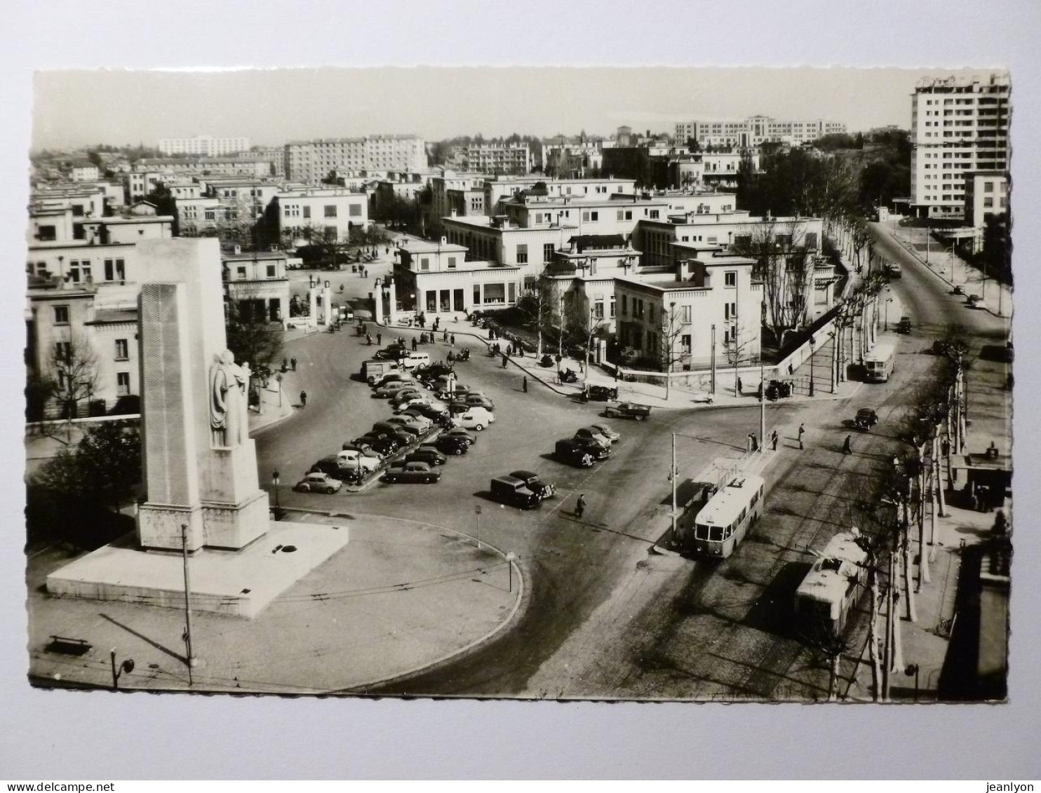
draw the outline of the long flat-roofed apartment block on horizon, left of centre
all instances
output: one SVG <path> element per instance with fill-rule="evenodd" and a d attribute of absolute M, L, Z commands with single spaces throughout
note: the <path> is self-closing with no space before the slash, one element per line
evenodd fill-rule
<path fill-rule="evenodd" d="M 416 135 L 365 135 L 295 140 L 283 150 L 286 179 L 320 184 L 331 172 L 338 175 L 360 171 L 427 169 L 427 147 Z"/>

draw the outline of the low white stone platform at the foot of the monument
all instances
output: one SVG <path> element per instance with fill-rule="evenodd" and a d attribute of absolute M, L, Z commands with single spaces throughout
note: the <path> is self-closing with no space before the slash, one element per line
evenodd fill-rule
<path fill-rule="evenodd" d="M 272 520 L 264 528 L 262 537 L 239 551 L 203 548 L 189 557 L 193 611 L 254 617 L 350 538 L 347 526 Z M 59 597 L 183 609 L 183 564 L 179 554 L 147 553 L 115 542 L 52 572 L 47 591 Z"/>

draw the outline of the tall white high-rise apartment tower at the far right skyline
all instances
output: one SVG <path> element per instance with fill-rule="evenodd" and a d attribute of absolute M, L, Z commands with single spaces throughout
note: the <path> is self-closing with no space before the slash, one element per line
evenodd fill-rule
<path fill-rule="evenodd" d="M 1007 75 L 922 79 L 911 95 L 911 211 L 962 218 L 967 175 L 1009 168 Z"/>

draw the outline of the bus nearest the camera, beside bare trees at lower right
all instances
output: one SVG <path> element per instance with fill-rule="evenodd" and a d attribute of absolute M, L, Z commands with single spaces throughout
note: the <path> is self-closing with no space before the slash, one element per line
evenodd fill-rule
<path fill-rule="evenodd" d="M 857 544 L 856 529 L 839 532 L 817 556 L 795 590 L 795 613 L 811 630 L 838 636 L 867 580 L 867 553 Z"/>

